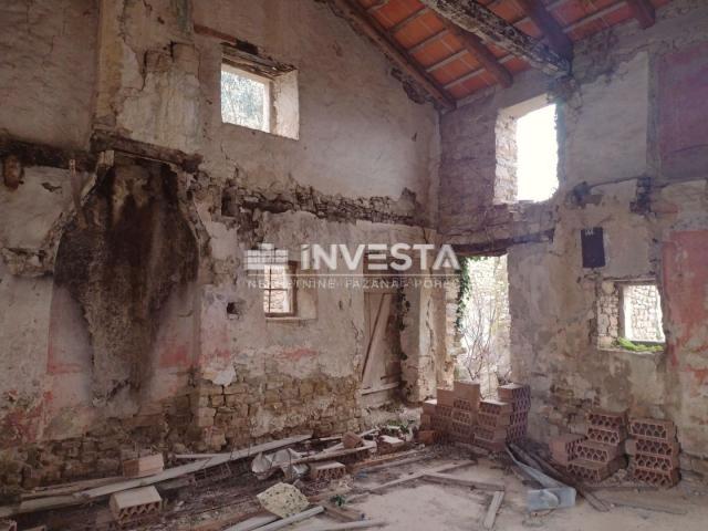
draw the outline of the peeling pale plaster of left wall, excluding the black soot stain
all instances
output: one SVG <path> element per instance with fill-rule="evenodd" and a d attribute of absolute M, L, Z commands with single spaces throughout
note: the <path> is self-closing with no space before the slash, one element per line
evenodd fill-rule
<path fill-rule="evenodd" d="M 0 303 L 9 310 L 0 330 L 9 367 L 0 378 L 7 435 L 0 446 L 41 442 L 42 465 L 51 464 L 39 475 L 13 466 L 8 485 L 111 472 L 119 445 L 136 429 L 150 442 L 221 448 L 291 429 L 329 434 L 365 424 L 357 394 L 363 293 L 321 290 L 316 320 L 267 322 L 261 292 L 239 283 L 243 252 L 261 241 L 292 250 L 309 242 L 435 241 L 435 230 L 423 227 L 437 214 L 436 111 L 412 102 L 379 52 L 325 3 L 103 0 L 79 9 L 73 2 L 58 9 L 63 30 L 56 35 L 59 15 L 49 14 L 55 6 L 27 2 L 27 12 L 42 17 L 31 28 L 14 25 L 54 41 L 54 55 L 27 83 L 7 90 L 9 101 L 22 103 L 50 87 L 67 121 L 37 126 L 54 108 L 49 96 L 41 111 L 22 103 L 0 114 L 0 128 L 11 137 L 70 148 L 61 159 L 27 164 L 17 190 L 0 184 Z M 2 19 L 2 27 L 18 17 Z M 299 69 L 299 140 L 221 124 L 221 43 L 196 35 L 195 22 Z M 11 56 L 31 55 L 25 42 L 8 41 Z M 74 72 L 80 65 L 83 71 Z M 60 67 L 67 71 L 60 75 Z M 92 364 L 96 334 L 105 331 L 52 277 L 62 236 L 76 222 L 67 158 L 86 155 L 77 148 L 88 146 L 91 118 L 93 133 L 104 137 L 154 145 L 150 153 L 158 155 L 180 150 L 202 158 L 198 171 L 169 165 L 198 240 L 197 278 L 162 300 L 152 352 L 136 353 L 152 374 L 147 389 L 138 398 L 118 392 L 98 403 Z M 106 170 L 92 168 L 79 171 L 88 216 Z M 222 210 L 233 187 L 238 201 Z M 435 371 L 446 360 L 437 293 L 405 293 L 404 393 L 412 400 L 433 395 Z M 236 313 L 227 312 L 229 302 Z M 112 441 L 104 448 L 108 462 L 96 465 L 102 438 Z M 51 442 L 56 439 L 65 440 Z M 84 447 L 91 458 L 82 457 Z M 13 451 L 15 465 L 28 458 Z"/>

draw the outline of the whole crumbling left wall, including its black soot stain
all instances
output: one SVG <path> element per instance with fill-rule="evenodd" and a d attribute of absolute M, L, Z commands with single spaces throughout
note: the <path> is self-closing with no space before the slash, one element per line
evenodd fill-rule
<path fill-rule="evenodd" d="M 131 444 L 365 424 L 363 291 L 267 319 L 246 251 L 437 241 L 436 110 L 326 2 L 0 9 L 0 159 L 22 166 L 0 184 L 0 483 L 107 471 Z M 218 33 L 298 70 L 299 139 L 221 123 Z M 399 394 L 418 402 L 450 372 L 445 295 L 402 296 Z"/>

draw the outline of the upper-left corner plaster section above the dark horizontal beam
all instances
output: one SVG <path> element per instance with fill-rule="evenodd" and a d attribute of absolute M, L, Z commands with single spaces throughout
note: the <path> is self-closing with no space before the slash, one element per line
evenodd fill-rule
<path fill-rule="evenodd" d="M 2 2 L 0 131 L 27 140 L 86 147 L 97 19 L 95 0 Z"/>

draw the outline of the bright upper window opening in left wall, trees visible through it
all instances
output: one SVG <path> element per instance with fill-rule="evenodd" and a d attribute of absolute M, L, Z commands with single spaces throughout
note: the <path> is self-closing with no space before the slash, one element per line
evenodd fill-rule
<path fill-rule="evenodd" d="M 270 133 L 271 81 L 221 65 L 221 121 Z"/>

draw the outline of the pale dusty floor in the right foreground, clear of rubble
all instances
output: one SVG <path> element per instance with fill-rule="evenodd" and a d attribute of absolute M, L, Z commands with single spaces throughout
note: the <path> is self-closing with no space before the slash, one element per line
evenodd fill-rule
<path fill-rule="evenodd" d="M 434 459 L 425 464 L 394 467 L 373 473 L 360 473 L 354 490 L 369 488 L 406 475 L 454 462 L 451 459 Z M 708 522 L 708 486 L 685 479 L 678 487 L 659 491 L 597 490 L 602 499 L 623 502 L 655 503 L 663 511 L 611 506 L 610 512 L 598 512 L 579 498 L 572 509 L 531 514 L 527 511 L 527 487 L 508 468 L 487 458 L 478 465 L 446 472 L 455 477 L 477 481 L 502 483 L 506 496 L 498 512 L 494 529 L 503 531 L 543 529 L 550 531 L 614 531 L 614 530 L 678 530 L 704 531 Z M 616 487 L 615 487 L 616 488 Z M 345 507 L 360 510 L 367 519 L 385 520 L 379 528 L 391 531 L 417 530 L 482 530 L 482 520 L 491 499 L 490 492 L 466 487 L 430 483 L 416 480 L 393 487 L 382 494 L 367 494 Z M 291 529 L 315 530 L 327 518 L 311 519 Z"/>

